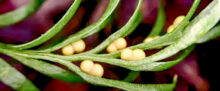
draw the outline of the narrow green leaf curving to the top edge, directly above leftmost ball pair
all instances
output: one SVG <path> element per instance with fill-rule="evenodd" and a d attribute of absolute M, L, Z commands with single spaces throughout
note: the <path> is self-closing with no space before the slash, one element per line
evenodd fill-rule
<path fill-rule="evenodd" d="M 80 30 L 79 32 L 69 36 L 66 40 L 63 42 L 45 49 L 45 50 L 39 50 L 39 52 L 51 52 L 58 50 L 72 42 L 78 41 L 82 38 L 86 38 L 89 35 L 92 35 L 94 33 L 99 32 L 101 29 L 103 29 L 108 23 L 110 16 L 112 15 L 113 11 L 116 9 L 118 6 L 120 0 L 110 0 L 108 7 L 106 8 L 104 14 L 102 17 L 95 23 L 89 25 L 88 27 L 84 28 L 83 30 Z"/>

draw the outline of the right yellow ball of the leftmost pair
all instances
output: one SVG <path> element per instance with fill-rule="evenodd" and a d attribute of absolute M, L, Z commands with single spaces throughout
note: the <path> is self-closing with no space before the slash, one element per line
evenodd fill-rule
<path fill-rule="evenodd" d="M 75 52 L 79 53 L 85 50 L 86 44 L 83 40 L 76 41 L 72 43 L 73 49 Z"/>

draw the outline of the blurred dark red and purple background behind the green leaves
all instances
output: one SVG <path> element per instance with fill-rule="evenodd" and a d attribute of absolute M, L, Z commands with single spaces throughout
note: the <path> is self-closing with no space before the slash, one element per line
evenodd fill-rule
<path fill-rule="evenodd" d="M 4 14 L 19 8 L 31 0 L 0 0 L 0 14 Z M 63 16 L 74 0 L 46 0 L 43 6 L 33 15 L 17 24 L 0 28 L 0 42 L 21 44 L 29 42 L 52 27 Z M 72 17 L 62 32 L 53 39 L 37 48 L 45 48 L 55 45 L 69 35 L 96 22 L 103 14 L 109 0 L 82 0 L 80 8 Z M 164 4 L 166 11 L 166 23 L 164 32 L 173 20 L 179 15 L 186 15 L 194 0 L 144 0 L 142 4 L 142 23 L 136 30 L 126 37 L 129 45 L 135 45 L 144 40 L 151 31 L 157 18 L 157 10 L 160 3 Z M 212 0 L 201 0 L 195 16 L 204 9 Z M 101 32 L 91 35 L 86 41 L 87 50 L 98 45 L 111 33 L 120 29 L 132 15 L 137 0 L 121 0 L 117 10 L 112 15 L 112 22 Z M 0 21 L 1 22 L 1 21 Z M 220 51 L 219 38 L 207 43 L 199 44 L 184 61 L 162 72 L 141 72 L 134 83 L 169 83 L 174 74 L 178 74 L 176 91 L 218 91 L 217 76 L 218 63 L 220 60 L 217 51 Z M 151 55 L 158 50 L 148 50 Z M 58 50 L 56 53 L 60 53 Z M 1 55 L 8 63 L 26 75 L 42 91 L 121 91 L 115 88 L 99 87 L 88 83 L 67 83 L 44 76 L 5 55 Z M 79 63 L 75 63 L 79 64 Z M 105 78 L 120 80 L 126 77 L 129 70 L 103 64 Z M 12 89 L 0 82 L 0 91 L 12 91 Z"/>

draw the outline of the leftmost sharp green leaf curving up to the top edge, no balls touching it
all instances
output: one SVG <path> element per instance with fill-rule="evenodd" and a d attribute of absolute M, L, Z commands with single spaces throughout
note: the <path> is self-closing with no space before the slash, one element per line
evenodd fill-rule
<path fill-rule="evenodd" d="M 80 3 L 81 0 L 75 0 L 74 3 L 69 8 L 69 10 L 65 13 L 65 15 L 52 28 L 50 28 L 46 33 L 42 34 L 37 39 L 25 44 L 8 45 L 8 46 L 15 49 L 28 49 L 46 42 L 47 40 L 55 36 L 58 32 L 60 32 L 62 28 L 69 22 L 69 20 L 72 18 L 72 16 L 75 14 L 76 10 L 78 9 Z"/>

